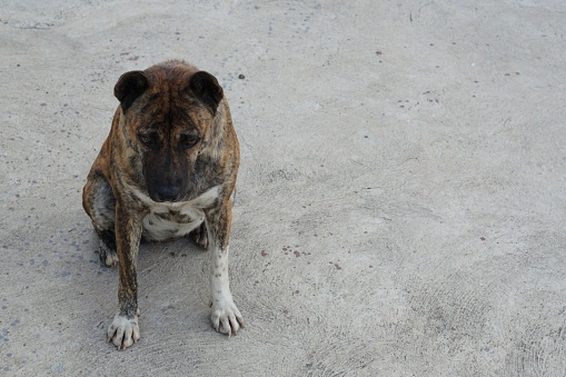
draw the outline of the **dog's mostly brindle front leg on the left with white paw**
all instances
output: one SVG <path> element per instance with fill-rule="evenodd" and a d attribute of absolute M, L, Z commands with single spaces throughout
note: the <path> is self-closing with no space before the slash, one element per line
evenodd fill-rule
<path fill-rule="evenodd" d="M 141 238 L 139 211 L 126 211 L 127 206 L 116 205 L 116 240 L 118 251 L 119 311 L 108 328 L 108 341 L 126 349 L 139 339 L 137 261 Z"/>

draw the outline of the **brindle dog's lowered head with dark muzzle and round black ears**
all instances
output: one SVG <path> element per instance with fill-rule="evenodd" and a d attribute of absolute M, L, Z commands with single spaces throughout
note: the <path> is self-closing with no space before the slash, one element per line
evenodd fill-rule
<path fill-rule="evenodd" d="M 180 201 L 188 192 L 198 155 L 210 143 L 224 98 L 216 78 L 182 63 L 122 75 L 115 87 L 126 138 L 141 161 L 155 201 Z"/>

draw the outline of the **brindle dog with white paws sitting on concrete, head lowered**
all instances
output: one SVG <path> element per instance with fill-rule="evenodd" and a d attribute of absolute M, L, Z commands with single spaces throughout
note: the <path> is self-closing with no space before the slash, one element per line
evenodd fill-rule
<path fill-rule="evenodd" d="M 171 60 L 123 73 L 115 96 L 120 103 L 82 192 L 100 260 L 119 270 L 108 341 L 126 349 L 140 338 L 140 241 L 187 236 L 210 249 L 212 327 L 236 335 L 244 321 L 230 292 L 228 248 L 240 156 L 222 88 L 212 75 Z"/>

